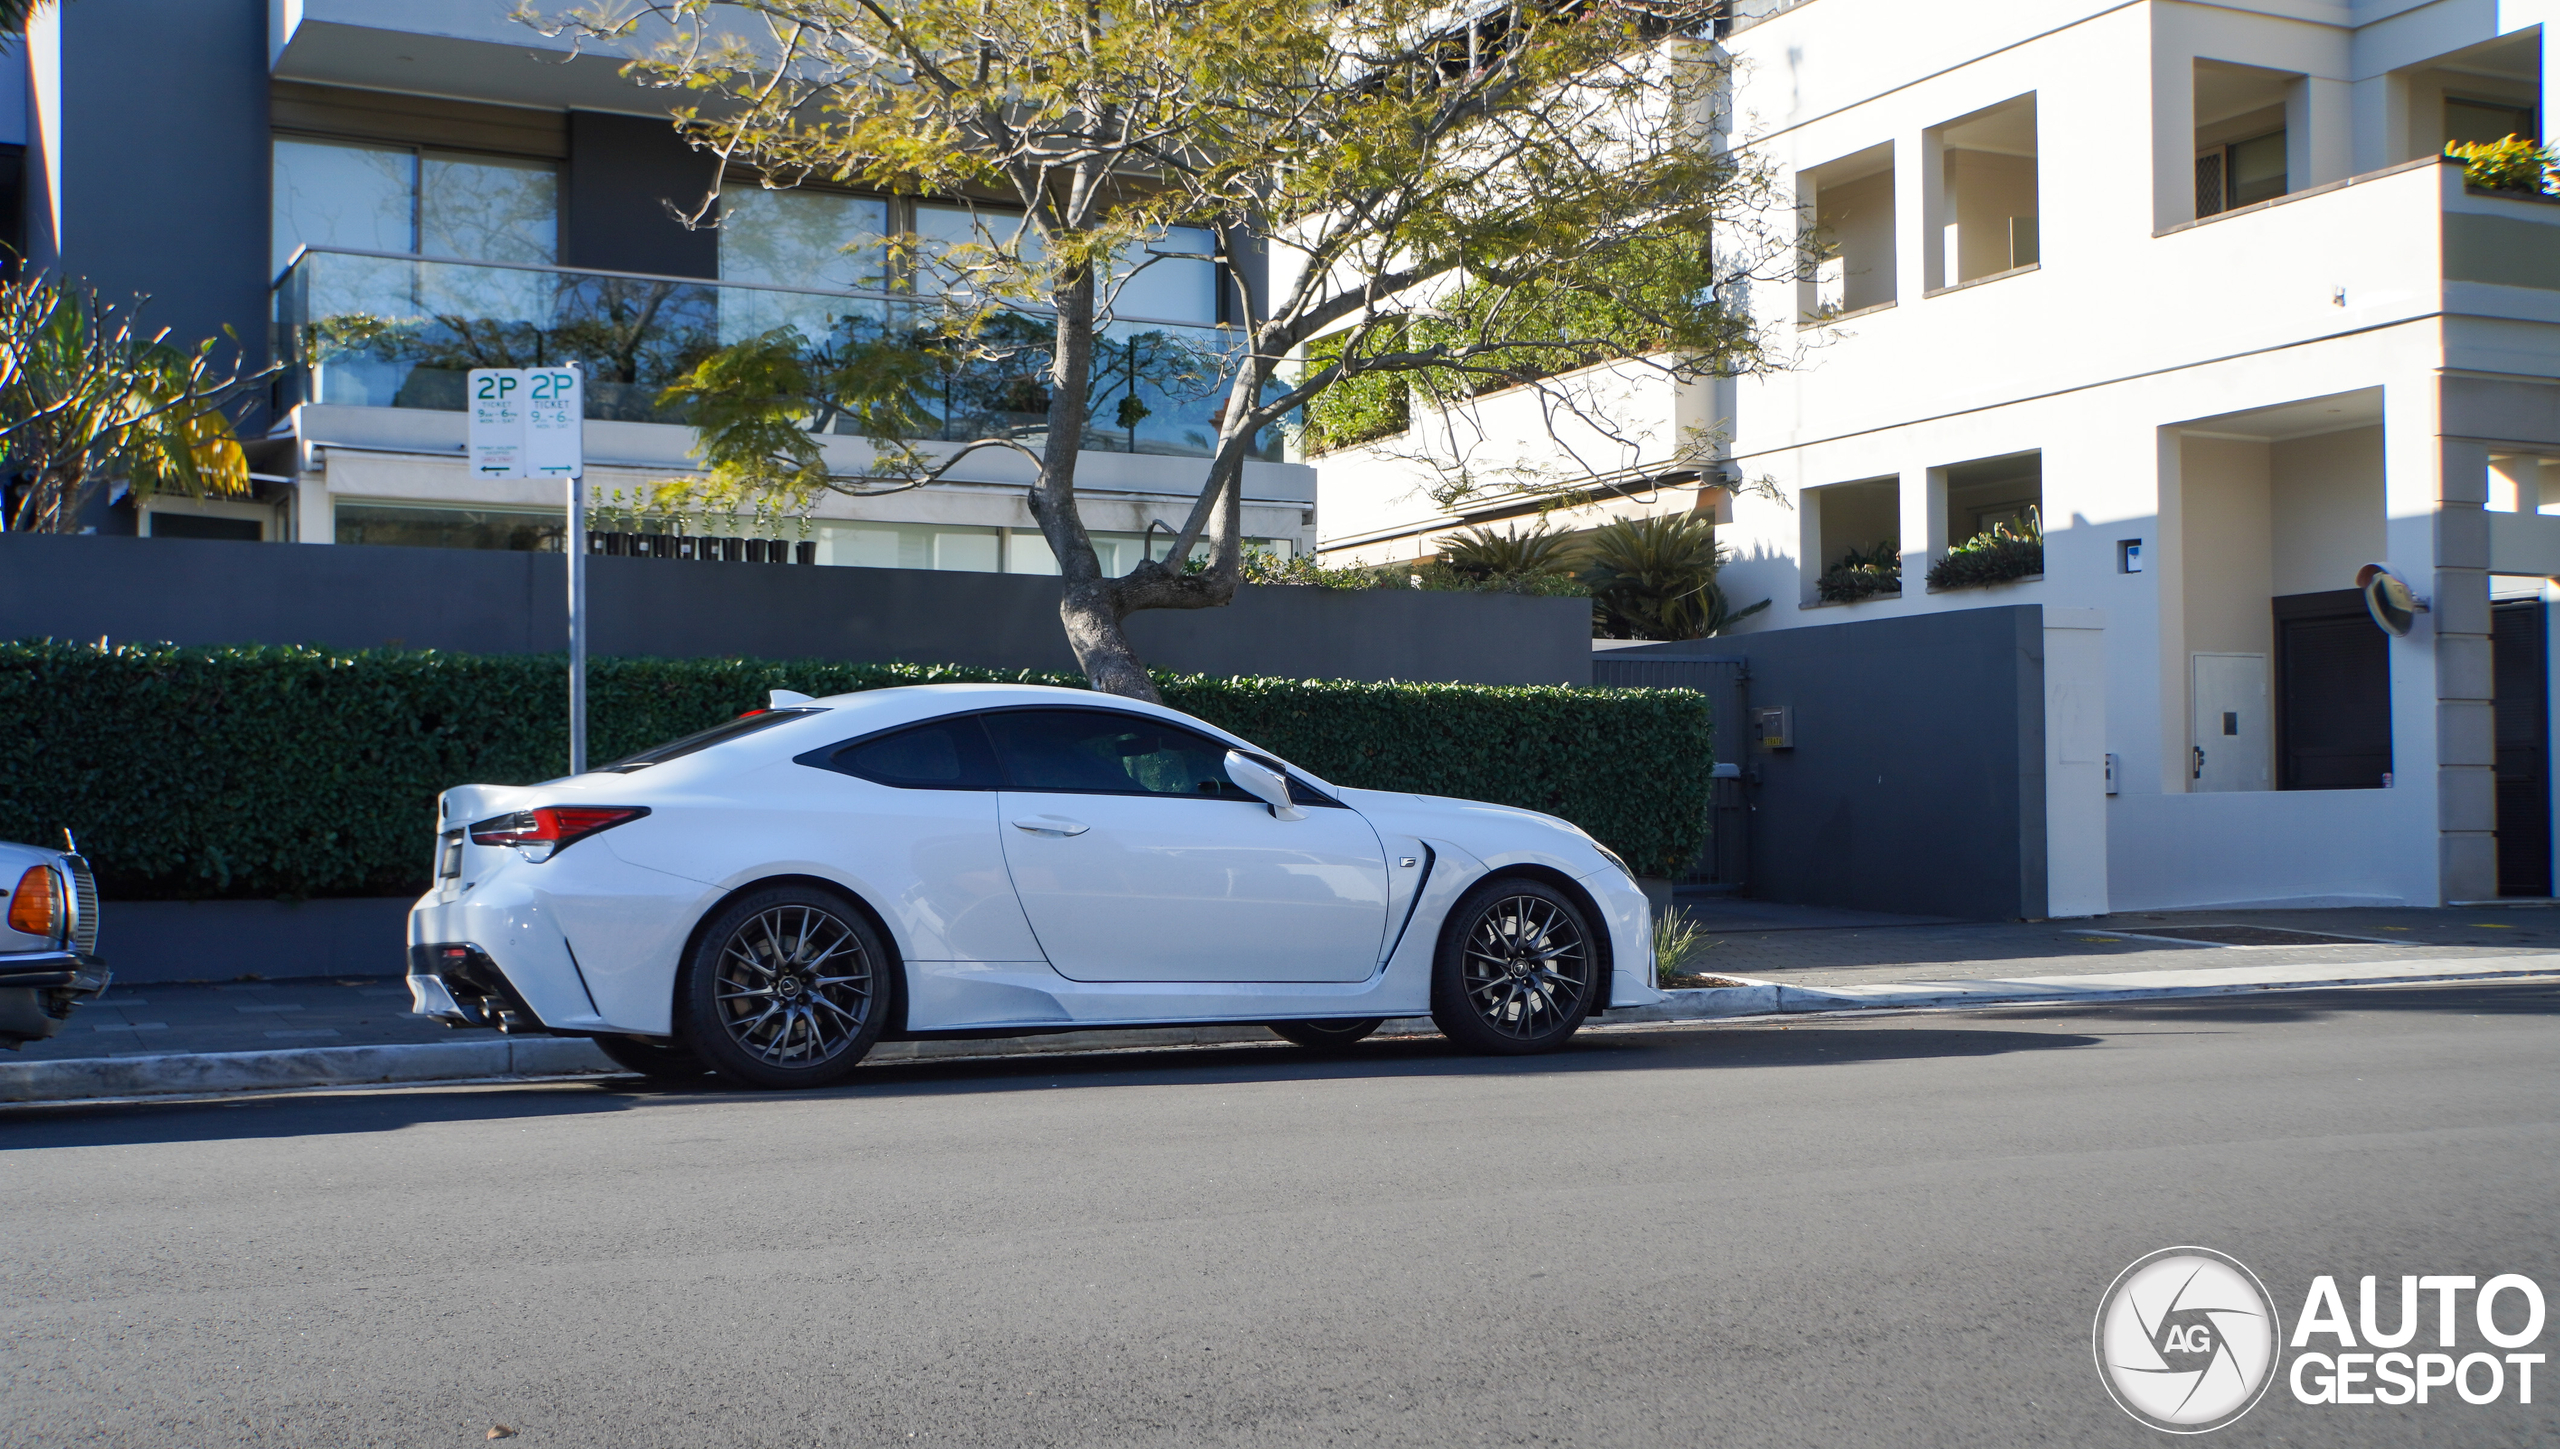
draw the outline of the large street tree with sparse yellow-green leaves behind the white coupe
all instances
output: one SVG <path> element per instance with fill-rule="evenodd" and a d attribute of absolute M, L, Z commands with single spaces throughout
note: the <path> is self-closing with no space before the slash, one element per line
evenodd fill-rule
<path fill-rule="evenodd" d="M 637 0 L 545 28 L 584 44 L 645 26 L 653 41 L 627 69 L 684 92 L 673 120 L 719 159 L 722 184 L 819 179 L 988 205 L 970 243 L 888 238 L 919 274 L 911 320 L 806 376 L 776 366 L 788 338 L 768 335 L 760 364 L 740 358 L 750 387 L 724 397 L 748 397 L 748 417 L 732 407 L 704 458 L 714 486 L 791 497 L 922 486 L 988 448 L 1029 458 L 1078 663 L 1096 689 L 1152 699 L 1121 620 L 1234 596 L 1244 461 L 1326 389 L 1382 374 L 1531 384 L 1582 412 L 1587 394 L 1556 381 L 1574 369 L 1774 366 L 1736 289 L 1792 276 L 1792 241 L 1759 225 L 1769 177 L 1715 146 L 1715 10 L 1526 0 L 1467 20 L 1434 0 Z M 694 220 L 709 225 L 709 205 Z M 1213 243 L 1175 251 L 1167 228 Z M 1121 289 L 1172 256 L 1211 256 L 1231 312 L 1254 320 L 1216 358 L 1165 364 L 1211 371 L 1224 392 L 1213 453 L 1170 556 L 1106 579 L 1075 509 L 1096 351 L 1114 346 Z M 1011 364 L 1037 384 L 1014 397 L 1027 420 L 919 445 L 893 346 L 945 374 Z M 773 430 L 817 412 L 860 422 L 863 479 L 827 474 L 806 438 Z"/>

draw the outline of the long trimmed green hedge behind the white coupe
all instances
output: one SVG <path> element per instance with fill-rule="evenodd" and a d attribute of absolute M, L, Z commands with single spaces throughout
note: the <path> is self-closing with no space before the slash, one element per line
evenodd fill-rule
<path fill-rule="evenodd" d="M 0 645 L 0 840 L 79 832 L 123 899 L 402 896 L 433 801 L 568 763 L 561 655 Z M 824 660 L 589 663 L 596 760 L 717 724 L 768 689 L 1080 676 Z M 1641 870 L 1708 822 L 1708 709 L 1682 691 L 1157 676 L 1165 701 L 1347 783 L 1562 814 Z"/>

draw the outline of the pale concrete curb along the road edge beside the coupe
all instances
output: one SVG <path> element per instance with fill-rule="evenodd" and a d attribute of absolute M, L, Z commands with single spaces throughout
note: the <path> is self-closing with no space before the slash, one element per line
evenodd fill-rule
<path fill-rule="evenodd" d="M 2097 1006 L 2176 996 L 2266 991 L 2335 991 L 2353 986 L 2445 986 L 2560 975 L 2560 957 L 2493 957 L 2419 968 L 2371 963 L 2322 975 L 2301 965 L 2232 965 L 2140 970 L 2115 975 L 2025 975 L 2007 981 L 1900 981 L 1889 986 L 1787 986 L 1736 978 L 1741 986 L 1667 991 L 1654 1006 L 1610 1011 L 1608 1027 L 1644 1021 L 1723 1021 L 1738 1016 L 1802 1016 L 1830 1011 L 1915 1011 L 1964 1006 Z M 1388 1037 L 1428 1037 L 1428 1016 L 1380 1027 Z M 1262 1027 L 1147 1027 L 1134 1032 L 1060 1032 L 1055 1037 L 991 1037 L 968 1042 L 886 1042 L 865 1062 L 929 1062 L 968 1057 L 1039 1057 L 1134 1052 L 1147 1047 L 1277 1045 Z M 417 1042 L 392 1047 L 302 1047 L 289 1052 L 187 1052 L 166 1057 L 84 1057 L 69 1062 L 0 1062 L 0 1103 L 212 1096 L 315 1085 L 451 1083 L 489 1078 L 576 1078 L 620 1073 L 579 1037 L 499 1037 L 481 1042 Z"/>

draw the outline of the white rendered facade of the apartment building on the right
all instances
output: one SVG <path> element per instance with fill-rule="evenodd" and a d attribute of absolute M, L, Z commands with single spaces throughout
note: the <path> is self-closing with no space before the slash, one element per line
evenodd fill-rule
<path fill-rule="evenodd" d="M 2555 637 L 2560 202 L 2465 189 L 2440 154 L 2560 136 L 2560 3 L 1743 10 L 1736 143 L 1833 253 L 1751 297 L 1802 364 L 1656 387 L 1641 445 L 1577 451 L 1626 486 L 1556 522 L 1718 515 L 1725 594 L 1774 599 L 1738 632 L 2040 604 L 2056 917 L 2499 896 L 2499 760 L 2527 714 L 2542 804 L 2516 809 L 2519 765 L 2504 806 L 2509 837 L 2542 832 L 2542 886 L 2509 860 L 2506 893 L 2550 893 L 2560 671 L 2496 660 L 2491 632 L 2493 609 L 2534 604 L 2506 648 Z M 1503 417 L 1510 394 L 1480 407 L 1485 448 L 1546 445 Z M 1700 489 L 1692 428 L 1784 502 Z M 1418 443 L 1318 458 L 1329 561 L 1536 515 L 1526 497 L 1439 509 L 1398 445 Z M 2040 576 L 1925 584 L 2030 504 Z M 1876 543 L 1900 545 L 1902 591 L 1823 602 L 1823 568 Z M 2371 655 L 2373 686 L 2337 696 L 2371 712 L 2381 753 L 2371 730 L 2324 737 L 2330 707 L 2286 673 L 2289 650 L 2363 658 L 2383 637 L 2289 625 L 2335 625 L 2368 561 L 2432 599 Z M 2493 676 L 2545 696 L 2524 709 Z"/>

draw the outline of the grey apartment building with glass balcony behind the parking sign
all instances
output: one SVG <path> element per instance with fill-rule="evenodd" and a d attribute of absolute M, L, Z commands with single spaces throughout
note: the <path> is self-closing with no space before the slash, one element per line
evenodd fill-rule
<path fill-rule="evenodd" d="M 28 82 L 23 233 L 33 264 L 148 294 L 177 338 L 241 338 L 284 364 L 253 420 L 259 494 L 125 499 L 105 532 L 317 545 L 563 548 L 553 481 L 474 479 L 471 366 L 584 361 L 586 458 L 607 509 L 694 471 L 668 381 L 771 328 L 878 338 L 916 305 L 878 238 L 965 241 L 1006 225 L 991 200 L 891 197 L 737 179 L 701 228 L 712 161 L 668 125 L 666 92 L 509 20 L 509 0 L 82 0 L 20 46 Z M 5 97 L 0 97 L 5 105 Z M 0 184 L 5 184 L 0 174 Z M 1198 243 L 1206 238 L 1170 238 Z M 929 282 L 927 282 L 929 287 Z M 1206 476 L 1219 389 L 1149 366 L 1231 346 L 1208 261 L 1132 282 L 1101 353 L 1078 461 L 1085 525 L 1124 573 L 1178 530 Z M 1037 448 L 1039 358 L 950 374 L 945 438 Z M 1129 407 L 1124 407 L 1129 404 Z M 845 433 L 842 428 L 837 433 Z M 852 435 L 824 440 L 860 476 Z M 1055 573 L 1024 507 L 1029 466 L 980 451 L 952 481 L 829 497 L 806 520 L 604 515 L 599 550 L 704 561 Z M 1244 530 L 1313 540 L 1313 474 L 1272 438 L 1244 468 Z M 630 540 L 630 532 L 645 532 Z M 1162 553 L 1157 553 L 1162 556 Z"/>

